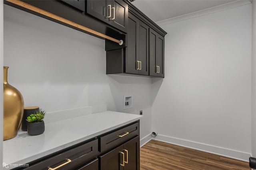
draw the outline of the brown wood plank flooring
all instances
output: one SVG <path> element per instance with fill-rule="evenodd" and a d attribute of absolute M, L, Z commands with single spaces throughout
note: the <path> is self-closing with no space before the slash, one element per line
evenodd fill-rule
<path fill-rule="evenodd" d="M 151 140 L 140 148 L 140 170 L 251 170 L 248 162 Z"/>

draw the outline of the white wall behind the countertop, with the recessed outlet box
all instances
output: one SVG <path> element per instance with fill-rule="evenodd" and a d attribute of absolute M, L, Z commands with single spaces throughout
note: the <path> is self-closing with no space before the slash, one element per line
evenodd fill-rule
<path fill-rule="evenodd" d="M 102 39 L 4 5 L 4 65 L 25 106 L 47 112 L 105 103 L 111 111 L 142 109 L 143 138 L 151 127 L 151 79 L 106 75 L 104 46 Z M 123 110 L 124 94 L 133 95 L 134 108 Z"/>

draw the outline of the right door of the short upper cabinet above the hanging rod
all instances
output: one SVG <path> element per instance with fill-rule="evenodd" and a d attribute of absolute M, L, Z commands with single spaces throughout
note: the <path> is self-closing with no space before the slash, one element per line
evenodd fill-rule
<path fill-rule="evenodd" d="M 112 6 L 115 10 L 115 15 L 112 14 L 111 18 L 114 17 L 115 19 L 111 20 L 111 25 L 124 32 L 127 32 L 126 22 L 128 20 L 128 4 L 121 0 L 114 0 L 112 2 Z M 112 10 L 112 12 L 114 12 L 114 10 Z"/>

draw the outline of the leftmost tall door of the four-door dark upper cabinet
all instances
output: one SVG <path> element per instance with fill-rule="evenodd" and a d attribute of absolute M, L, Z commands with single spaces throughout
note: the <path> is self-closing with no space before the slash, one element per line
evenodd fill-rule
<path fill-rule="evenodd" d="M 125 57 L 125 72 L 138 74 L 137 66 L 137 48 L 138 48 L 138 19 L 132 14 L 128 17 L 128 33 L 127 33 L 127 48 Z"/>

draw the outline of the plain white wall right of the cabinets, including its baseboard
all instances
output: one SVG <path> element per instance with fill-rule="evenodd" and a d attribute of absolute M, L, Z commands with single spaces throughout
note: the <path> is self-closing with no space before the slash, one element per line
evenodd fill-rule
<path fill-rule="evenodd" d="M 165 78 L 152 84 L 156 139 L 248 161 L 251 8 L 161 26 L 168 34 Z"/>

